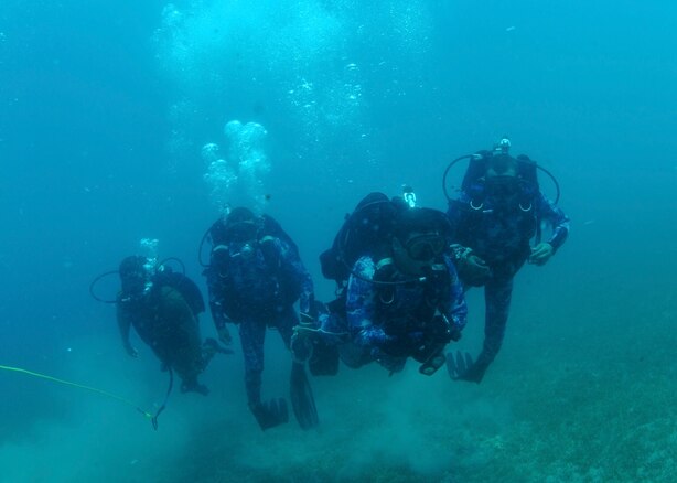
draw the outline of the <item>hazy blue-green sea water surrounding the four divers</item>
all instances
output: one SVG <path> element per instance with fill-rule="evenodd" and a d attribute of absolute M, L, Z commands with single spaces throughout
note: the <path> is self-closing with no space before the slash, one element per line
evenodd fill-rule
<path fill-rule="evenodd" d="M 480 386 L 344 367 L 313 380 L 320 431 L 261 433 L 236 350 L 154 432 L 125 404 L 0 371 L 0 481 L 673 481 L 673 2 L 135 3 L 0 8 L 0 365 L 161 402 L 153 355 L 126 356 L 88 286 L 151 237 L 204 288 L 221 206 L 201 150 L 226 152 L 230 120 L 266 129 L 269 165 L 259 197 L 232 203 L 265 195 L 324 300 L 318 255 L 361 196 L 408 183 L 444 208 L 447 163 L 503 135 L 557 175 L 571 236 L 519 273 Z M 475 353 L 480 296 L 459 344 Z M 265 397 L 287 391 L 277 339 Z"/>

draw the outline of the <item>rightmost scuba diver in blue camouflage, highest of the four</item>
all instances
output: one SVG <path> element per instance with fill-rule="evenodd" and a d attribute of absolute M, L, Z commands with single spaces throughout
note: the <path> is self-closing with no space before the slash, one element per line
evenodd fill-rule
<path fill-rule="evenodd" d="M 476 361 L 468 353 L 447 355 L 449 374 L 458 380 L 482 382 L 503 343 L 513 278 L 525 262 L 545 265 L 569 234 L 569 218 L 556 205 L 559 185 L 555 178 L 524 154 L 513 158 L 509 149 L 511 141 L 504 137 L 492 151 L 458 158 L 444 172 L 459 276 L 466 288 L 484 287 L 486 309 L 484 344 Z M 452 198 L 447 191 L 447 174 L 464 159 L 470 160 L 468 171 L 459 196 Z M 555 202 L 540 192 L 537 169 L 555 182 Z M 546 224 L 551 230 L 542 242 Z"/>

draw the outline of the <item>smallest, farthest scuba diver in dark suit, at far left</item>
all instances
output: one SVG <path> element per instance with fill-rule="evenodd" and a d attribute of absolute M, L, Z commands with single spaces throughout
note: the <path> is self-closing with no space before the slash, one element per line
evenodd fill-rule
<path fill-rule="evenodd" d="M 125 351 L 138 357 L 129 341 L 133 326 L 162 363 L 163 371 L 175 371 L 183 393 L 208 394 L 197 376 L 215 353 L 228 354 L 214 339 L 201 342 L 198 314 L 205 305 L 197 286 L 182 273 L 173 272 L 153 258 L 130 256 L 119 267 L 122 288 L 116 299 L 117 321 Z"/>

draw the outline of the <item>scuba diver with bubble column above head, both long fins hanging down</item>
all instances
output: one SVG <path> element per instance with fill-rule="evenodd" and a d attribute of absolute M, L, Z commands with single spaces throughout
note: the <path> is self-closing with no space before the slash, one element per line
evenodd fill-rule
<path fill-rule="evenodd" d="M 292 328 L 314 305 L 313 282 L 293 240 L 270 216 L 246 207 L 230 211 L 209 228 L 209 265 L 204 275 L 219 340 L 230 342 L 226 323 L 237 324 L 245 357 L 250 411 L 262 430 L 289 420 L 283 398 L 261 400 L 266 329 L 276 329 L 289 347 Z M 206 235 L 205 235 L 206 236 Z M 307 315 L 308 316 L 308 315 Z M 318 425 L 315 404 L 303 364 L 292 362 L 291 401 L 303 429 Z"/>

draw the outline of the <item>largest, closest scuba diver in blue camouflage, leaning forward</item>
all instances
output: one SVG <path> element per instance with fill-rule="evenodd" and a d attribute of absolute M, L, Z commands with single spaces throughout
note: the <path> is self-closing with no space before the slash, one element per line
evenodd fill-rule
<path fill-rule="evenodd" d="M 450 230 L 444 213 L 417 207 L 415 197 L 367 195 L 320 257 L 340 297 L 294 329 L 294 356 L 313 374 L 335 374 L 327 351 L 337 346 L 335 357 L 352 368 L 378 362 L 393 374 L 411 357 L 421 374 L 434 374 L 466 321 Z"/>

